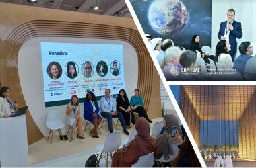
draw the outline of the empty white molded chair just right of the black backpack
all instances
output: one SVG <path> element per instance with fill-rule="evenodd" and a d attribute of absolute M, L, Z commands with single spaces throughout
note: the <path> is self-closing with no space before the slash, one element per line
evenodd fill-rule
<path fill-rule="evenodd" d="M 108 167 L 108 163 L 113 157 L 113 152 L 119 149 L 120 145 L 121 145 L 120 132 L 114 132 L 114 133 L 108 134 L 104 145 L 96 146 L 96 149 L 101 151 L 100 157 L 98 159 L 98 163 L 100 163 L 100 159 L 104 157 L 104 159 L 106 160 L 106 167 Z M 110 159 L 108 159 L 108 155 L 110 155 Z"/>

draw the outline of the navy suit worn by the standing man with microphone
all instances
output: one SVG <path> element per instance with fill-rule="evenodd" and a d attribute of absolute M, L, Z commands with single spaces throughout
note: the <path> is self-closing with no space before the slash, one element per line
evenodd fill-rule
<path fill-rule="evenodd" d="M 236 54 L 237 42 L 236 38 L 242 38 L 242 25 L 240 22 L 236 22 L 235 20 L 232 23 L 234 29 L 229 34 L 229 44 L 231 45 L 230 55 Z M 226 21 L 220 23 L 220 30 L 218 32 L 218 38 L 224 36 L 226 28 Z M 234 60 L 234 58 L 232 58 Z"/>

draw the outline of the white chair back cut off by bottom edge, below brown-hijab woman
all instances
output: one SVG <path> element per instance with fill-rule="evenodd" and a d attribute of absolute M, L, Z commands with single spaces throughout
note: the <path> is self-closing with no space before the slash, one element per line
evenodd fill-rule
<path fill-rule="evenodd" d="M 139 160 L 131 167 L 152 167 L 154 165 L 154 153 L 149 153 L 148 155 L 144 155 L 139 157 Z"/>

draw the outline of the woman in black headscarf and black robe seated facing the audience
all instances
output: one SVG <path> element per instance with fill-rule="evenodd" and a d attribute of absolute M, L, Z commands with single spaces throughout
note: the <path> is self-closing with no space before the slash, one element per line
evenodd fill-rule
<path fill-rule="evenodd" d="M 197 51 L 201 53 L 201 57 L 203 58 L 203 60 L 205 61 L 205 63 L 209 63 L 208 58 L 212 59 L 212 56 L 209 56 L 206 53 L 203 53 L 203 51 L 201 50 L 201 46 L 199 44 L 200 42 L 200 37 L 199 35 L 195 34 L 192 39 L 191 39 L 191 43 L 189 46 L 189 50 L 195 52 L 195 54 L 197 54 Z"/>

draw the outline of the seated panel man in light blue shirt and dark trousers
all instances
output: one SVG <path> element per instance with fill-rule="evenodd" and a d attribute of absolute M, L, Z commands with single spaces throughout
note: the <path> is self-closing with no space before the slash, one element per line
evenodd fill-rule
<path fill-rule="evenodd" d="M 101 116 L 108 120 L 108 130 L 110 134 L 113 133 L 113 125 L 112 125 L 112 118 L 119 118 L 121 125 L 123 127 L 123 133 L 129 135 L 129 132 L 126 129 L 125 120 L 123 119 L 123 115 L 121 112 L 117 112 L 115 99 L 110 96 L 110 89 L 105 90 L 105 96 L 100 99 L 100 109 L 101 109 Z"/>

